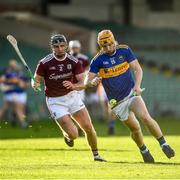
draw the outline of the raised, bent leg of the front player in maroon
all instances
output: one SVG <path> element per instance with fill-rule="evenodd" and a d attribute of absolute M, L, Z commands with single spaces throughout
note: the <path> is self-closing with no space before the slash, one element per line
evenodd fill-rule
<path fill-rule="evenodd" d="M 61 129 L 65 142 L 68 146 L 74 145 L 74 139 L 78 137 L 78 130 L 69 114 L 64 115 L 61 118 L 56 119 L 56 123 Z"/>

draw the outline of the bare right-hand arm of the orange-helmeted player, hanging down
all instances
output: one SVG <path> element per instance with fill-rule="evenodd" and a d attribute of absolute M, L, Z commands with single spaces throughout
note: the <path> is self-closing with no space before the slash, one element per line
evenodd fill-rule
<path fill-rule="evenodd" d="M 135 85 L 133 90 L 137 93 L 137 95 L 141 95 L 142 93 L 141 82 L 143 78 L 142 68 L 137 59 L 131 61 L 129 65 L 135 75 Z"/>

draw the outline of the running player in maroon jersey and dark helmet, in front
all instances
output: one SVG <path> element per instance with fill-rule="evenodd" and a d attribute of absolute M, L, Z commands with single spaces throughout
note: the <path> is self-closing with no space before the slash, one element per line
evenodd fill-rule
<path fill-rule="evenodd" d="M 47 107 L 62 130 L 66 144 L 72 147 L 74 139 L 78 137 L 73 118 L 85 132 L 94 160 L 105 161 L 98 153 L 96 132 L 84 103 L 77 91 L 65 87 L 66 81 L 73 83 L 74 76 L 78 81 L 73 84 L 74 88 L 83 83 L 82 66 L 67 53 L 68 45 L 64 35 L 53 35 L 50 44 L 52 53 L 39 61 L 34 75 L 36 83 L 32 82 L 32 87 L 36 90 L 41 80 L 44 80 Z"/>

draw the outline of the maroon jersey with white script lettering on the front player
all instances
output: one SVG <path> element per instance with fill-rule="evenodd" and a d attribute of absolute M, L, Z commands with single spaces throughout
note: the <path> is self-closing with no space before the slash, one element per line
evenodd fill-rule
<path fill-rule="evenodd" d="M 72 90 L 66 89 L 62 82 L 73 82 L 73 77 L 83 72 L 80 62 L 73 56 L 66 54 L 64 60 L 57 60 L 53 54 L 43 58 L 36 68 L 36 74 L 44 77 L 45 95 L 58 97 Z"/>

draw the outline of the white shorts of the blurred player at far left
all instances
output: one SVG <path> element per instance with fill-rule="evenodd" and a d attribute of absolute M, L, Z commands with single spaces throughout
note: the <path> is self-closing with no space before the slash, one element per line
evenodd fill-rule
<path fill-rule="evenodd" d="M 7 102 L 26 104 L 27 94 L 25 92 L 5 94 L 4 100 Z"/>

